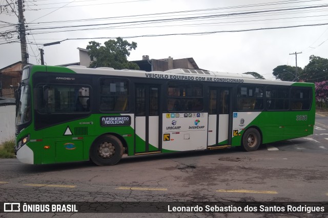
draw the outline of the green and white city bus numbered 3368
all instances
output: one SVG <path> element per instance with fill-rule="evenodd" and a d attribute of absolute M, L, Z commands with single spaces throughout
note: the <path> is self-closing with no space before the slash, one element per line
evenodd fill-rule
<path fill-rule="evenodd" d="M 19 161 L 92 160 L 260 144 L 313 134 L 313 83 L 245 74 L 27 66 L 16 95 Z"/>

